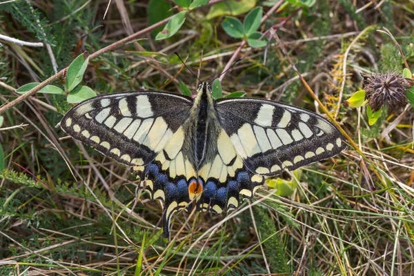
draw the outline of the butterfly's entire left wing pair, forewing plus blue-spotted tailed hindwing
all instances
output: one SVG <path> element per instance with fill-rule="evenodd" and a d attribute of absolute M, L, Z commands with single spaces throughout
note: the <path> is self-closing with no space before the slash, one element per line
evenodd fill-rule
<path fill-rule="evenodd" d="M 61 121 L 68 135 L 130 166 L 141 188 L 164 201 L 166 237 L 172 213 L 187 206 L 196 179 L 182 149 L 191 106 L 193 100 L 181 95 L 124 92 L 83 101 Z"/>

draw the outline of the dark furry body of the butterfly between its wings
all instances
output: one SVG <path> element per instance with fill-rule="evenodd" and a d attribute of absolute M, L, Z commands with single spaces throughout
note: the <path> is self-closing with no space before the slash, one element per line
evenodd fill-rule
<path fill-rule="evenodd" d="M 190 110 L 190 117 L 186 121 L 186 139 L 190 143 L 184 152 L 193 152 L 188 159 L 195 168 L 200 168 L 206 161 L 215 157 L 216 145 L 208 145 L 208 141 L 216 141 L 219 125 L 214 108 L 215 100 L 211 95 L 211 88 L 207 82 L 200 83 L 193 107 Z"/>

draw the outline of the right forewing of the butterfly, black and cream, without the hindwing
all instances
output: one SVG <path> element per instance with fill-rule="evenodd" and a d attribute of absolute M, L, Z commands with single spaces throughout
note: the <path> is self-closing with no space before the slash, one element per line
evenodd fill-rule
<path fill-rule="evenodd" d="M 215 108 L 244 164 L 258 175 L 295 170 L 346 147 L 330 121 L 302 108 L 262 99 L 219 99 Z"/>

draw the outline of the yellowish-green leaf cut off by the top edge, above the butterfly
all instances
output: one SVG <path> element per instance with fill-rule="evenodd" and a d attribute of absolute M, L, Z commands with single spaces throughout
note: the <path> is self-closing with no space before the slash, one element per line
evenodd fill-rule
<path fill-rule="evenodd" d="M 233 17 L 236 17 L 255 8 L 256 2 L 256 0 L 227 0 L 217 3 L 211 6 L 206 19 L 210 20 L 223 15 L 233 15 Z"/>

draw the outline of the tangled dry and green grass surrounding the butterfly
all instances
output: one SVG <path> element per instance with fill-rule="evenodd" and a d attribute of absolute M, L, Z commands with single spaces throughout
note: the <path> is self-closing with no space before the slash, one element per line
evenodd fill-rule
<path fill-rule="evenodd" d="M 55 75 L 83 50 L 97 52 L 148 27 L 147 1 L 112 1 L 105 20 L 108 1 L 75 2 L 36 1 L 55 39 L 50 50 L 0 39 L 1 103 L 15 99 L 19 86 Z M 1 10 L 0 4 L 1 34 L 39 41 Z M 208 10 L 189 14 L 170 39 L 155 41 L 146 32 L 95 56 L 83 83 L 98 94 L 159 90 L 168 81 L 164 90 L 179 92 L 184 81 L 194 91 L 196 79 L 187 70 L 177 75 L 181 63 L 172 52 L 188 55 L 195 71 L 201 62 L 202 80 L 242 57 L 221 81 L 224 95 L 242 90 L 322 112 L 275 40 L 266 50 L 239 47 L 219 18 L 206 19 Z M 8 108 L 0 126 L 6 157 L 0 274 L 414 275 L 412 108 L 384 112 L 368 126 L 365 108 L 342 106 L 361 88 L 359 72 L 404 68 L 393 40 L 376 31 L 383 26 L 414 68 L 413 10 L 412 0 L 341 0 L 299 10 L 287 3 L 272 12 L 261 30 L 277 26 L 295 67 L 361 152 L 350 146 L 299 174 L 284 173 L 281 179 L 293 179 L 288 196 L 266 185 L 232 213 L 181 212 L 170 241 L 159 230 L 161 203 L 136 189 L 128 169 L 72 139 L 59 140 L 63 132 L 55 126 L 70 107 L 64 99 L 35 95 Z"/>

